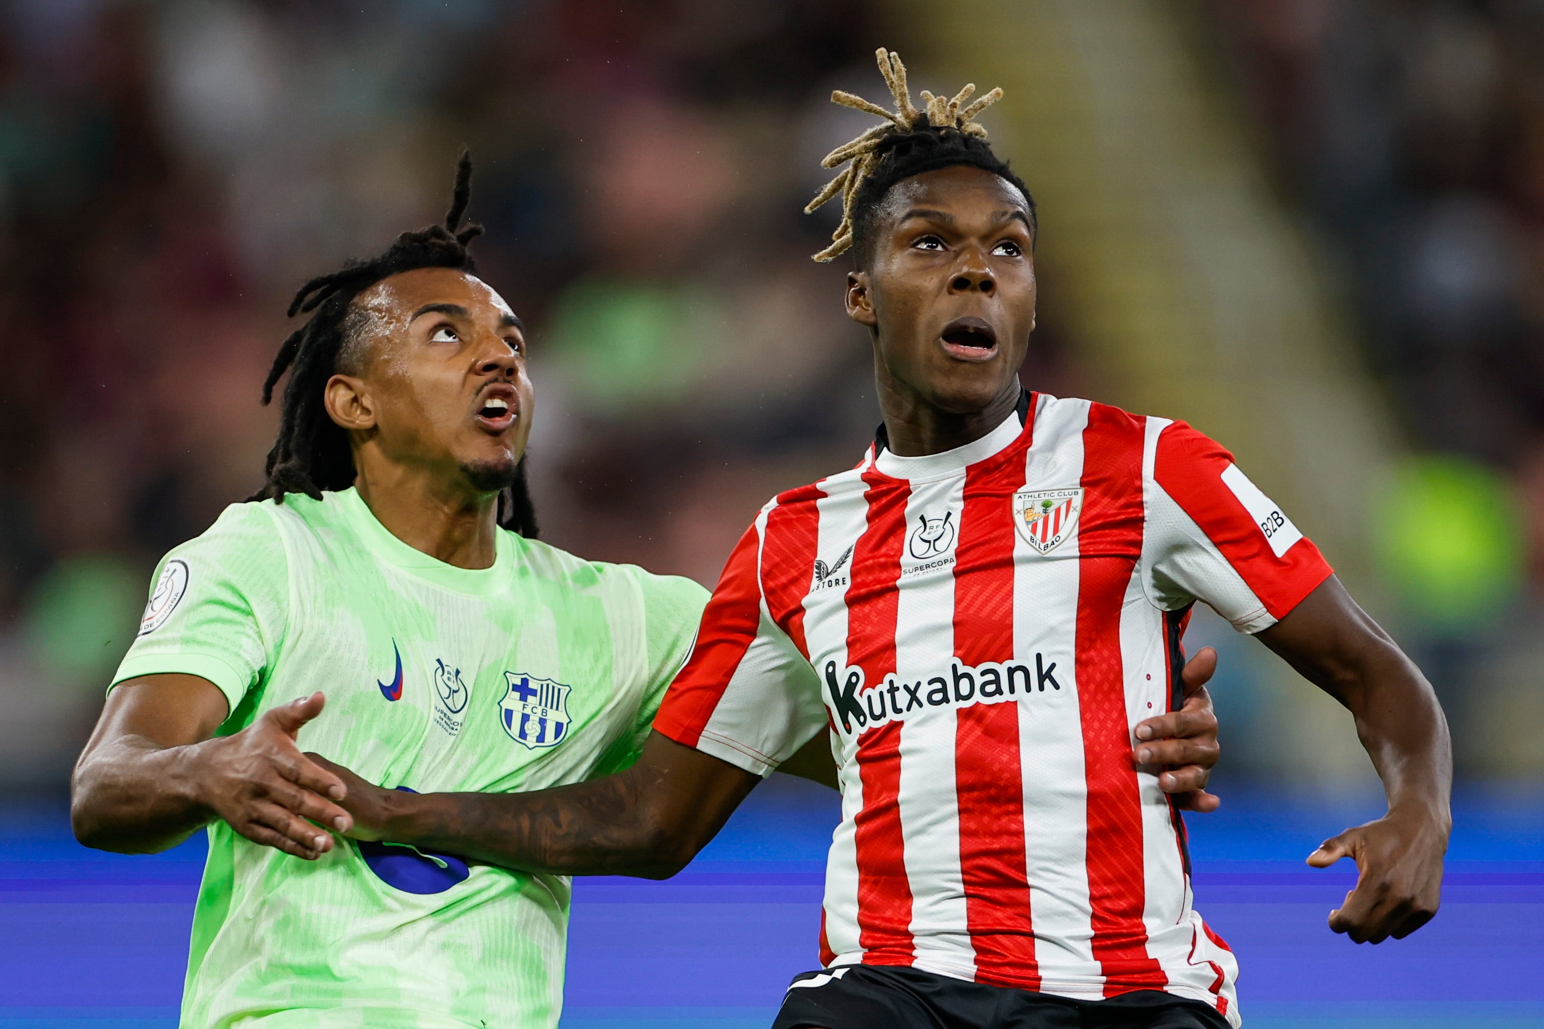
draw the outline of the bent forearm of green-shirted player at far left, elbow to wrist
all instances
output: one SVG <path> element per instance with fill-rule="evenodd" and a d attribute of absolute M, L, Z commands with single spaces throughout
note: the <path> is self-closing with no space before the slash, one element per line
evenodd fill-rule
<path fill-rule="evenodd" d="M 97 850 L 157 853 L 207 825 L 213 813 L 199 790 L 202 747 L 124 736 L 85 754 L 69 788 L 76 839 Z"/>

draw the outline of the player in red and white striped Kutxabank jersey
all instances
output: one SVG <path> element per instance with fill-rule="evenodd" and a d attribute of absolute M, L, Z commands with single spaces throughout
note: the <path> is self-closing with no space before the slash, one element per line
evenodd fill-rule
<path fill-rule="evenodd" d="M 886 120 L 817 259 L 851 248 L 883 424 L 857 467 L 769 501 L 730 555 L 644 754 L 542 793 L 391 795 L 355 835 L 534 872 L 669 876 L 823 734 L 841 824 L 821 967 L 778 1029 L 1238 1026 L 1237 961 L 1192 904 L 1169 757 L 1195 602 L 1340 700 L 1388 813 L 1309 856 L 1360 878 L 1329 915 L 1379 943 L 1437 909 L 1447 724 L 1414 663 L 1232 455 L 1195 429 L 1019 384 L 1036 213 L 970 102 L 879 52 Z"/>

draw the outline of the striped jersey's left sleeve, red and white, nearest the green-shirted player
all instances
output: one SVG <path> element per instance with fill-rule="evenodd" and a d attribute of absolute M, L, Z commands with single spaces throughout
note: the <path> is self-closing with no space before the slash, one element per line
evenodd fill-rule
<path fill-rule="evenodd" d="M 760 541 L 752 526 L 730 554 L 655 728 L 767 776 L 826 725 L 826 708 L 815 670 L 767 614 Z"/>

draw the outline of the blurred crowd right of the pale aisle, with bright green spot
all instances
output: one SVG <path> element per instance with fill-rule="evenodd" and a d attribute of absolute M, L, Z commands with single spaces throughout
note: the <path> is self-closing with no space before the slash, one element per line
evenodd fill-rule
<path fill-rule="evenodd" d="M 1419 457 L 1373 504 L 1459 773 L 1544 773 L 1544 6 L 1214 0 Z"/>

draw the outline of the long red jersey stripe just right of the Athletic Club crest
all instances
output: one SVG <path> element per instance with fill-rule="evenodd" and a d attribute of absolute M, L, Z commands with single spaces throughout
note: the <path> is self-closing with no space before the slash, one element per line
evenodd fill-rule
<path fill-rule="evenodd" d="M 1147 955 L 1143 811 L 1121 666 L 1121 608 L 1143 548 L 1144 420 L 1092 404 L 1078 531 L 1078 705 L 1089 782 L 1089 902 L 1104 995 L 1163 989 Z"/>

